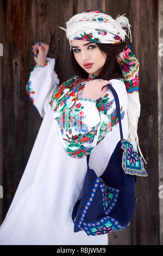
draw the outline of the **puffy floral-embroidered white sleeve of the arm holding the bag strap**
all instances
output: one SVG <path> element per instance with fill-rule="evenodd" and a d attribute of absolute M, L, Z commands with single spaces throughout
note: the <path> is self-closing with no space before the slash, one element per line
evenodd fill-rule
<path fill-rule="evenodd" d="M 112 86 L 120 91 L 121 119 L 127 109 L 127 92 L 122 81 L 110 80 Z M 78 99 L 54 114 L 62 145 L 69 156 L 82 158 L 101 142 L 118 123 L 114 96 L 108 88 L 103 98 Z"/>

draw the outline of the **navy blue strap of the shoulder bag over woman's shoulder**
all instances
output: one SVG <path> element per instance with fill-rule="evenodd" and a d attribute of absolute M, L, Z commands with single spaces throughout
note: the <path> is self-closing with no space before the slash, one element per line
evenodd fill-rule
<path fill-rule="evenodd" d="M 119 126 L 120 126 L 120 136 L 121 140 L 123 139 L 123 132 L 122 132 L 122 123 L 121 123 L 121 112 L 120 112 L 120 101 L 118 99 L 118 94 L 116 90 L 112 87 L 112 85 L 108 84 L 106 85 L 109 87 L 110 91 L 112 92 L 114 98 L 115 98 L 115 103 L 116 103 L 116 110 L 117 110 L 117 115 L 118 115 L 118 121 L 119 121 Z M 89 159 L 90 159 L 90 154 L 87 155 L 87 166 L 89 167 Z"/>

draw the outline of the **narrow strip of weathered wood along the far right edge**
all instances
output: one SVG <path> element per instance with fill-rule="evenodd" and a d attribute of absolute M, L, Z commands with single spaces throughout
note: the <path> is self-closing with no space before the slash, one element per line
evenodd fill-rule
<path fill-rule="evenodd" d="M 163 185 L 163 1 L 158 4 L 158 138 L 159 138 L 159 186 Z M 162 187 L 161 187 L 162 190 Z M 161 192 L 159 190 L 159 192 Z M 160 209 L 160 245 L 163 245 L 163 198 L 159 200 Z"/>

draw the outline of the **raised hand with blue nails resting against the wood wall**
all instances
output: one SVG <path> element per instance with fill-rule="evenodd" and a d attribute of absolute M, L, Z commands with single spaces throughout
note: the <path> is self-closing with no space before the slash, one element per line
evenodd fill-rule
<path fill-rule="evenodd" d="M 39 41 L 32 46 L 32 51 L 34 53 L 34 60 L 37 64 L 43 65 L 46 62 L 46 56 L 47 56 L 48 50 L 49 50 L 49 45 Z"/>

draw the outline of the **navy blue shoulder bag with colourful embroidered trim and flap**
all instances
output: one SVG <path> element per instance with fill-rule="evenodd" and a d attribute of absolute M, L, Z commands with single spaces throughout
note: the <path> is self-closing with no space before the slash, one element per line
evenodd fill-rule
<path fill-rule="evenodd" d="M 89 236 L 122 230 L 129 225 L 135 210 L 136 176 L 148 176 L 133 145 L 123 139 L 120 102 L 114 88 L 110 84 L 108 87 L 116 102 L 121 140 L 100 177 L 89 168 L 90 155 L 87 156 L 82 197 L 72 212 L 74 232 L 84 230 Z"/>

